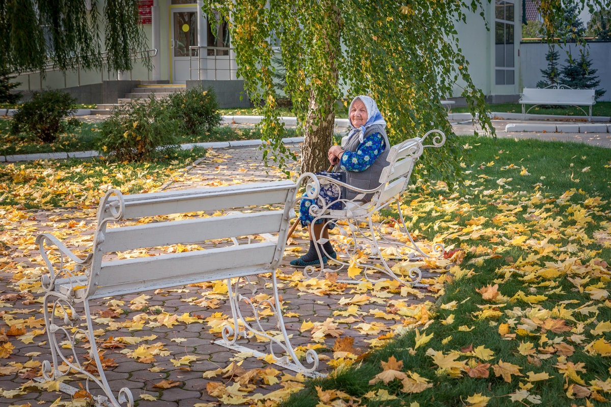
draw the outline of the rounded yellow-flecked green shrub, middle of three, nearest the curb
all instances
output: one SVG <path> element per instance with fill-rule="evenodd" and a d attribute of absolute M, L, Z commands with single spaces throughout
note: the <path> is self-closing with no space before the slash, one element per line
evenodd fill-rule
<path fill-rule="evenodd" d="M 121 161 L 152 161 L 172 155 L 178 148 L 180 123 L 168 99 L 137 99 L 115 106 L 100 126 L 98 151 Z"/>

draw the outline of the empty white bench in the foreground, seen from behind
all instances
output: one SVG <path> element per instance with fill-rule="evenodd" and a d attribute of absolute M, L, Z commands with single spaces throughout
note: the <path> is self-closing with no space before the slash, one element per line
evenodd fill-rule
<path fill-rule="evenodd" d="M 222 340 L 215 343 L 241 349 L 241 345 L 236 345 L 238 338 L 265 337 L 277 363 L 301 372 L 313 372 L 318 366 L 318 356 L 315 351 L 308 351 L 305 362 L 309 367 L 305 367 L 295 355 L 285 330 L 276 286 L 276 268 L 284 255 L 288 225 L 298 199 L 296 192 L 306 178 L 314 179 L 306 173 L 298 182 L 260 182 L 134 195 L 109 190 L 100 201 L 93 251 L 86 259 L 75 256 L 52 234 L 40 234 L 36 242 L 49 268 L 49 275 L 42 278 L 46 291 L 43 309 L 53 359 L 53 366 L 43 361 L 45 380 L 57 380 L 65 375 L 67 372 L 65 369 L 60 372 L 59 366 L 63 362 L 87 376 L 87 391 L 93 382 L 100 386 L 112 405 L 133 406 L 130 389 L 123 387 L 115 398 L 109 388 L 93 334 L 89 301 L 218 279 L 227 279 L 233 315 L 222 330 Z M 312 194 L 310 197 L 318 193 L 315 179 L 314 182 L 307 189 Z M 246 211 L 232 211 L 223 216 L 211 217 L 203 212 L 244 207 Z M 279 209 L 266 209 L 269 207 Z M 175 217 L 165 216 L 170 214 L 183 214 L 185 219 L 172 220 Z M 118 222 L 126 219 L 134 222 Z M 115 227 L 107 227 L 113 222 L 117 222 Z M 266 239 L 253 239 L 252 235 Z M 213 248 L 167 252 L 169 245 L 192 245 L 213 239 Z M 218 247 L 218 239 L 227 243 Z M 122 259 L 113 255 L 130 250 L 145 250 L 152 255 Z M 250 278 L 260 277 L 262 273 L 271 273 L 273 296 L 262 303 L 252 303 L 251 298 L 255 296 L 251 290 L 242 296 L 238 289 L 244 284 L 255 289 Z M 86 329 L 80 327 L 81 310 L 77 311 L 77 305 L 82 306 Z M 247 317 L 241 308 L 246 308 Z M 265 311 L 265 316 L 258 313 L 260 309 Z M 268 318 L 268 315 L 273 316 Z M 272 330 L 273 333 L 269 332 Z M 66 343 L 70 346 L 65 346 Z M 84 343 L 90 346 L 89 350 L 82 348 Z M 87 355 L 95 361 L 97 375 L 84 369 L 82 361 Z M 103 395 L 96 397 L 98 402 L 107 401 Z"/>

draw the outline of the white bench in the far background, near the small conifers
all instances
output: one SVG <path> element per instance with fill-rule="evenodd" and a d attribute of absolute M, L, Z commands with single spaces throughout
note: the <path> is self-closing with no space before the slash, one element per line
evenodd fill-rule
<path fill-rule="evenodd" d="M 594 89 L 573 89 L 566 85 L 552 85 L 554 87 L 524 88 L 521 93 L 519 103 L 522 104 L 522 119 L 526 118 L 526 113 L 533 107 L 542 104 L 576 106 L 584 114 L 588 114 L 580 106 L 590 106 L 588 117 L 592 121 L 592 106 L 596 104 Z M 529 110 L 525 110 L 527 104 L 532 104 Z"/>

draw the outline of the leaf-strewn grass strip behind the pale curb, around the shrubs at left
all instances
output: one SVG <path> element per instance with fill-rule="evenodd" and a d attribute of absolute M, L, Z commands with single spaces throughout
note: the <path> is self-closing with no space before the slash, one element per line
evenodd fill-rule
<path fill-rule="evenodd" d="M 81 127 L 72 132 L 60 134 L 53 143 L 39 142 L 31 134 L 9 134 L 10 119 L 0 119 L 0 155 L 54 153 L 60 151 L 90 151 L 95 150 L 95 140 L 98 137 L 100 123 L 82 123 Z M 287 137 L 295 137 L 295 129 L 287 129 Z M 226 142 L 233 140 L 260 139 L 260 131 L 256 129 L 233 129 L 229 126 L 214 128 L 196 137 L 183 135 L 179 142 L 207 143 Z"/>

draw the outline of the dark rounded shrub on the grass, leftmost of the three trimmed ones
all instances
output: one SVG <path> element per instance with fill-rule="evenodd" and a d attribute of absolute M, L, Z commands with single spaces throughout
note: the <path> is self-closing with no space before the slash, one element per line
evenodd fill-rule
<path fill-rule="evenodd" d="M 43 143 L 54 142 L 65 131 L 64 118 L 75 113 L 75 103 L 75 98 L 61 90 L 34 92 L 13 115 L 10 132 L 16 135 L 29 131 Z"/>

